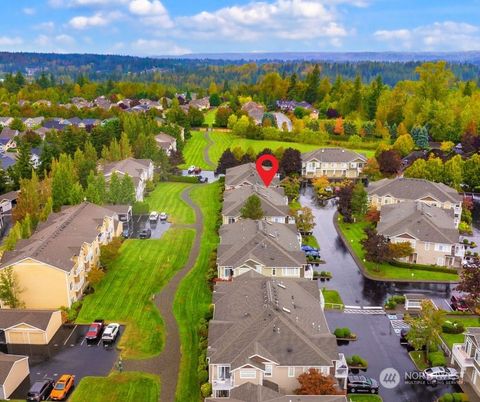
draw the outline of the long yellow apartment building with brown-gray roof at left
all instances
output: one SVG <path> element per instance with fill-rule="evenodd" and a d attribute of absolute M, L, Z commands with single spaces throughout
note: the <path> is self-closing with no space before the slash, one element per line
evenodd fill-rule
<path fill-rule="evenodd" d="M 29 239 L 19 240 L 15 250 L 4 253 L 0 272 L 13 269 L 26 308 L 70 307 L 82 297 L 100 246 L 122 233 L 118 208 L 88 202 L 65 207 L 40 223 Z"/>

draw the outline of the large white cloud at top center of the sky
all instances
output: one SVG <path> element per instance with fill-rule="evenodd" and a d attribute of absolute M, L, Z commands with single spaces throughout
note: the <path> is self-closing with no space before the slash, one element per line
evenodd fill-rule
<path fill-rule="evenodd" d="M 359 3 L 349 1 L 350 4 Z M 362 2 L 363 4 L 363 2 Z M 176 22 L 192 38 L 227 38 L 255 41 L 260 38 L 309 40 L 338 39 L 348 34 L 334 5 L 326 0 L 275 0 L 203 11 Z"/>

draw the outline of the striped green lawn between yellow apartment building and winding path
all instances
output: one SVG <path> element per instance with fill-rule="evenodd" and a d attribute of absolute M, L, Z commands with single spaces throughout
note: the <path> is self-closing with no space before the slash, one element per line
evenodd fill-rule
<path fill-rule="evenodd" d="M 185 265 L 193 238 L 193 229 L 171 228 L 158 240 L 126 240 L 95 292 L 85 297 L 77 322 L 126 324 L 119 344 L 125 358 L 160 353 L 163 321 L 151 298 Z"/>

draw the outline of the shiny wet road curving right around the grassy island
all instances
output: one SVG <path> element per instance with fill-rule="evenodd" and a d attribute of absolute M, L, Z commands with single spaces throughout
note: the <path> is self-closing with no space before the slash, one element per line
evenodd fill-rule
<path fill-rule="evenodd" d="M 316 270 L 330 271 L 333 275 L 329 282 L 319 282 L 319 286 L 338 290 L 347 305 L 382 306 L 389 296 L 408 292 L 424 293 L 439 307 L 449 309 L 446 299 L 450 298 L 454 285 L 381 282 L 365 278 L 333 225 L 335 201 L 319 206 L 312 199 L 312 190 L 307 188 L 300 203 L 312 209 L 316 222 L 313 234 L 320 245 L 322 259 L 326 261 Z"/>

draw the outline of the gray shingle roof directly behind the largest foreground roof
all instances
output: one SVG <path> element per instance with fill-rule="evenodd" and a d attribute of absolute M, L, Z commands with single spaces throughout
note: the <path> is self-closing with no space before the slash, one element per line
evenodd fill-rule
<path fill-rule="evenodd" d="M 267 267 L 301 267 L 306 260 L 297 236 L 295 225 L 283 223 L 246 219 L 223 225 L 217 263 L 238 267 L 252 260 Z"/>

